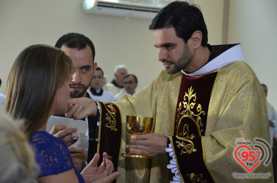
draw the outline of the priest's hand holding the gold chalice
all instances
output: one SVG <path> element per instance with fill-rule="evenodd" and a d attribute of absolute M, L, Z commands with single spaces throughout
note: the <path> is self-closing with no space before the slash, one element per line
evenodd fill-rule
<path fill-rule="evenodd" d="M 143 135 L 132 135 L 130 144 L 126 146 L 130 152 L 147 156 L 166 155 L 167 139 L 165 135 L 158 133 L 147 133 Z"/>

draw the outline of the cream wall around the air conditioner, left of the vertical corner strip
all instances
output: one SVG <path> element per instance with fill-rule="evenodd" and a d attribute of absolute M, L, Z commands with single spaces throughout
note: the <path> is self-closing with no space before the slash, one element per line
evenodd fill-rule
<path fill-rule="evenodd" d="M 221 44 L 223 1 L 196 0 L 207 22 L 209 43 Z M 95 61 L 108 81 L 116 65 L 126 64 L 138 77 L 137 91 L 147 86 L 164 69 L 157 61 L 151 20 L 87 14 L 82 0 L 0 0 L 0 93 L 5 93 L 12 64 L 32 44 L 54 46 L 61 35 L 78 32 L 96 47 Z"/>

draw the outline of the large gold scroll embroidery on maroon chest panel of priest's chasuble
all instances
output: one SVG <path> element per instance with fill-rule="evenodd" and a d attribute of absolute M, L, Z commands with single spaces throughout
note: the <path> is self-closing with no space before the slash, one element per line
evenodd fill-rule
<path fill-rule="evenodd" d="M 188 133 L 189 132 L 188 124 L 185 124 L 183 127 L 183 131 L 178 134 L 179 126 L 180 126 L 181 120 L 183 118 L 189 118 L 190 120 L 192 120 L 194 122 L 195 126 L 198 129 L 199 136 L 201 136 L 201 133 L 204 131 L 203 129 L 200 130 L 200 128 L 203 127 L 203 123 L 202 123 L 202 119 L 201 119 L 200 115 L 201 114 L 205 115 L 205 111 L 202 111 L 201 104 L 197 104 L 196 111 L 198 112 L 198 114 L 194 114 L 192 109 L 194 109 L 194 107 L 196 105 L 195 101 L 196 101 L 196 92 L 193 93 L 192 86 L 190 86 L 190 88 L 188 89 L 188 93 L 187 92 L 185 93 L 184 101 L 179 103 L 179 107 L 177 109 L 178 126 L 177 126 L 177 132 L 176 132 L 177 134 L 176 135 L 184 136 L 184 137 L 194 137 L 195 136 L 193 133 L 191 135 Z M 183 111 L 181 111 L 182 103 L 183 103 L 183 107 L 184 107 Z M 194 117 L 196 117 L 196 120 L 194 119 Z"/>

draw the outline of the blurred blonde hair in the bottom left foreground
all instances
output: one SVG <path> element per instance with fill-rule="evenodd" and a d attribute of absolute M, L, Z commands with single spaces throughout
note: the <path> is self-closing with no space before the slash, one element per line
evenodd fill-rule
<path fill-rule="evenodd" d="M 39 173 L 34 153 L 18 125 L 0 112 L 0 183 L 34 182 Z"/>

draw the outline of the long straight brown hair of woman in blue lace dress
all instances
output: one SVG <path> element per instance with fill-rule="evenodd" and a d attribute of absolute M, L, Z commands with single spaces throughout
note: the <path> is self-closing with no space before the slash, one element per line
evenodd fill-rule
<path fill-rule="evenodd" d="M 15 119 L 25 119 L 28 140 L 46 122 L 57 90 L 73 69 L 65 52 L 47 45 L 29 46 L 14 61 L 4 111 Z"/>

